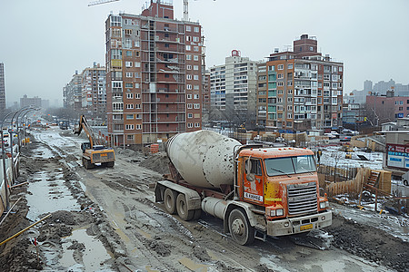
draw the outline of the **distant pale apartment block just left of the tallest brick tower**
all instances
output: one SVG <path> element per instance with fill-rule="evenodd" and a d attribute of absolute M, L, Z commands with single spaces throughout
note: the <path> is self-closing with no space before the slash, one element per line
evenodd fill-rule
<path fill-rule="evenodd" d="M 106 86 L 105 67 L 94 63 L 84 69 L 82 75 L 82 109 L 87 117 L 105 120 Z"/>

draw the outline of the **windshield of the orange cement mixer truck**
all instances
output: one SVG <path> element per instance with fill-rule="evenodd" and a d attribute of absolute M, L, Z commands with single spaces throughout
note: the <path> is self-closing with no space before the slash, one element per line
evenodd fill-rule
<path fill-rule="evenodd" d="M 268 176 L 300 174 L 316 171 L 312 155 L 265 159 L 265 169 Z"/>

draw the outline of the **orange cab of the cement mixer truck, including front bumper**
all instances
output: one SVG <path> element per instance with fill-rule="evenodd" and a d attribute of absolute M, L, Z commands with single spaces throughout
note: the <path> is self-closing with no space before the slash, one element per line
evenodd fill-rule
<path fill-rule="evenodd" d="M 236 199 L 264 211 L 265 232 L 282 236 L 332 223 L 328 199 L 320 197 L 314 152 L 268 148 L 237 151 Z"/>

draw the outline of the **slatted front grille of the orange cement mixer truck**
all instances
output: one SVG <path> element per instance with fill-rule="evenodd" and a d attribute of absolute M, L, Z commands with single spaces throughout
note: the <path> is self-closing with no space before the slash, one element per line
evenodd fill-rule
<path fill-rule="evenodd" d="M 287 198 L 290 215 L 316 212 L 318 209 L 315 182 L 287 185 Z"/>

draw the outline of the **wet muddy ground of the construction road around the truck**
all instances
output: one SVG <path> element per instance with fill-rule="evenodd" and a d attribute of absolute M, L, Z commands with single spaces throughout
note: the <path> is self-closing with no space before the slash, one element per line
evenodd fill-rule
<path fill-rule="evenodd" d="M 142 153 L 116 151 L 114 169 L 85 170 L 78 164 L 80 141 L 68 132 L 34 131 L 31 138 L 18 179 L 30 184 L 13 189 L 12 202 L 22 199 L 0 226 L 0 242 L 48 214 L 29 213 L 33 207 L 27 199 L 32 201 L 35 184 L 49 189 L 51 200 L 58 200 L 65 187 L 76 203 L 52 211 L 50 218 L 0 246 L 0 271 L 409 271 L 407 242 L 337 212 L 333 226 L 324 229 L 334 238 L 324 250 L 308 246 L 304 238 L 286 237 L 238 246 L 224 235 L 221 220 L 202 215 L 184 222 L 155 203 L 153 185 L 167 167 L 164 154 L 145 159 Z M 101 257 L 93 260 L 90 253 Z"/>

